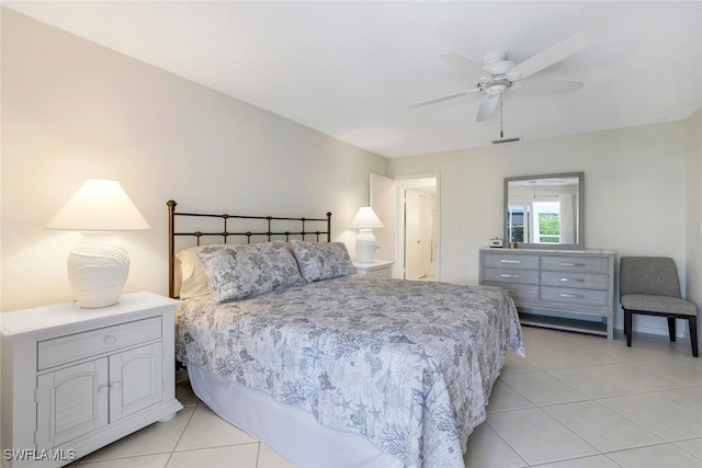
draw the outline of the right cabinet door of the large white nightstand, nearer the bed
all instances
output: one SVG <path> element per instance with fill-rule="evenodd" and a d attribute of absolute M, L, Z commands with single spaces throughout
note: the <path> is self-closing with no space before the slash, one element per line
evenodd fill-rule
<path fill-rule="evenodd" d="M 161 401 L 161 343 L 110 356 L 110 422 Z"/>

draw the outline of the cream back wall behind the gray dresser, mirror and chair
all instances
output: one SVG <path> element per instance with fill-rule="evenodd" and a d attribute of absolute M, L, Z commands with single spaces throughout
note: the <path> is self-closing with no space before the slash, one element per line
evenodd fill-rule
<path fill-rule="evenodd" d="M 441 173 L 443 281 L 478 283 L 478 249 L 502 237 L 503 178 L 584 171 L 586 247 L 612 249 L 616 259 L 672 256 L 684 285 L 687 134 L 688 124 L 679 122 L 523 140 L 392 159 L 388 172 Z M 619 328 L 621 321 L 620 310 Z M 637 318 L 639 330 L 658 333 L 666 327 L 665 320 Z"/>

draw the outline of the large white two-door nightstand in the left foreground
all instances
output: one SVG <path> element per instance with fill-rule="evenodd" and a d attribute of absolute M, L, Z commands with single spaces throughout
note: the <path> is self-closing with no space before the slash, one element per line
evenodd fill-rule
<path fill-rule="evenodd" d="M 59 467 L 174 416 L 179 304 L 136 293 L 0 313 L 3 464 Z"/>

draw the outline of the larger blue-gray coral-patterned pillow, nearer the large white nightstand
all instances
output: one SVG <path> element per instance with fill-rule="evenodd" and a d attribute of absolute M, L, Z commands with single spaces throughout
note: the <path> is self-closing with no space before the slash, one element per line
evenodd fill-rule
<path fill-rule="evenodd" d="M 217 304 L 303 283 L 297 263 L 283 241 L 204 246 L 197 256 Z"/>

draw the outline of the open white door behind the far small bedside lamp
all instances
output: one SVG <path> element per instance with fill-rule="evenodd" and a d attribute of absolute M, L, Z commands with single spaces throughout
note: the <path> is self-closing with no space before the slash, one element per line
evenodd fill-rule
<path fill-rule="evenodd" d="M 394 260 L 397 264 L 397 191 L 395 181 L 378 174 L 371 174 L 371 207 L 383 225 L 382 229 L 373 229 L 378 250 L 378 260 Z M 393 275 L 395 276 L 395 275 Z"/>

